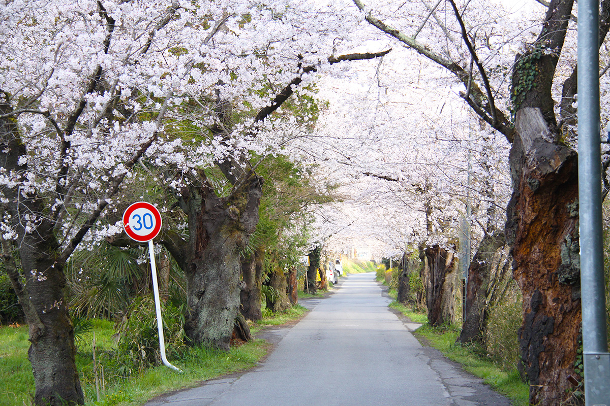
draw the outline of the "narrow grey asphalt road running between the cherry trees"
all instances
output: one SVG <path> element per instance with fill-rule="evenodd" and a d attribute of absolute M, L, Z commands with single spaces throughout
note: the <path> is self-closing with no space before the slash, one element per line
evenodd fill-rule
<path fill-rule="evenodd" d="M 387 307 L 374 273 L 343 278 L 256 369 L 166 394 L 147 406 L 508 406 L 431 348 Z M 281 337 L 283 335 L 284 337 Z"/>

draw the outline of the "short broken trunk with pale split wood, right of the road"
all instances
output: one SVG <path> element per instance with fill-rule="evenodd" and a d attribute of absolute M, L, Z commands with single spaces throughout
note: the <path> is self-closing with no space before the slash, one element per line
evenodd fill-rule
<path fill-rule="evenodd" d="M 451 324 L 455 311 L 453 253 L 440 248 L 438 245 L 426 248 L 425 252 L 430 275 L 426 292 L 428 324 L 432 327 Z"/>

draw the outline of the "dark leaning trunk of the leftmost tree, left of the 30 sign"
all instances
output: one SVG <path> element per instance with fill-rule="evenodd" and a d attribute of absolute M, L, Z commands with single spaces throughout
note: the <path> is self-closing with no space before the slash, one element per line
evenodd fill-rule
<path fill-rule="evenodd" d="M 7 108 L 0 103 L 0 113 L 7 113 Z M 27 152 L 13 119 L 0 118 L 0 142 L 0 160 L 4 169 L 7 173 L 13 172 L 17 183 L 24 181 L 27 167 L 20 164 L 19 159 Z M 31 345 L 28 357 L 34 373 L 34 404 L 84 404 L 75 362 L 74 328 L 63 295 L 66 278 L 63 262 L 58 260 L 59 243 L 53 230 L 54 223 L 43 215 L 48 211 L 37 195 L 26 194 L 19 186 L 4 186 L 2 194 L 8 200 L 5 210 L 18 236 L 20 268 L 26 278 L 24 286 L 9 243 L 3 241 L 5 270 L 29 325 Z M 24 219 L 24 213 L 36 219 L 32 222 L 32 231 L 26 230 L 29 220 Z"/>

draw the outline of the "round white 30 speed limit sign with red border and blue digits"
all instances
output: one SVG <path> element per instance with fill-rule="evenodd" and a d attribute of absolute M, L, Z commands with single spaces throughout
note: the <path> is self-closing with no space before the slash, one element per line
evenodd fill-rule
<path fill-rule="evenodd" d="M 161 231 L 161 214 L 150 203 L 138 201 L 123 213 L 123 228 L 129 238 L 148 242 Z"/>

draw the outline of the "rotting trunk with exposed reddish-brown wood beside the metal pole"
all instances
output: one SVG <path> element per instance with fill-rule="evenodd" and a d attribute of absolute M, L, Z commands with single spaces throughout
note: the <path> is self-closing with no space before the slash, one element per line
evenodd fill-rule
<path fill-rule="evenodd" d="M 577 165 L 573 150 L 543 139 L 524 153 L 518 137 L 511 150 L 511 167 L 522 170 L 514 179 L 506 231 L 523 293 L 520 369 L 532 404 L 565 400 L 580 348 Z"/>

